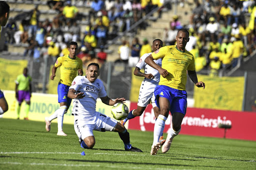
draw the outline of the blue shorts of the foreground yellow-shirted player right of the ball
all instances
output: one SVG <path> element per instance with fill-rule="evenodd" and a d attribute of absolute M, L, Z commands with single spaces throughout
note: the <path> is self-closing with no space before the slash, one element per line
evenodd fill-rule
<path fill-rule="evenodd" d="M 155 104 L 158 108 L 160 108 L 158 102 L 159 97 L 164 97 L 170 102 L 171 115 L 175 112 L 182 113 L 183 115 L 186 114 L 187 94 L 185 90 L 177 90 L 168 86 L 158 85 L 154 89 L 154 95 Z"/>

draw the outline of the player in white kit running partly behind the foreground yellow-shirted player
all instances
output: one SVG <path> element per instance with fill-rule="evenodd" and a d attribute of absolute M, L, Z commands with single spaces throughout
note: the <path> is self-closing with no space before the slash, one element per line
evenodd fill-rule
<path fill-rule="evenodd" d="M 163 46 L 162 40 L 155 39 L 152 42 L 152 50 L 153 52 L 158 50 Z M 124 120 L 120 121 L 122 125 L 124 125 L 127 120 L 133 119 L 136 116 L 141 116 L 144 110 L 146 109 L 146 106 L 150 104 L 150 101 L 152 103 L 152 108 L 154 111 L 155 118 L 158 117 L 160 109 L 156 107 L 156 104 L 154 102 L 154 88 L 158 85 L 158 82 L 160 80 L 160 74 L 159 72 L 152 68 L 151 66 L 147 65 L 145 63 L 145 58 L 150 55 L 150 53 L 143 54 L 138 63 L 136 64 L 136 67 L 133 71 L 133 74 L 135 76 L 145 77 L 144 80 L 141 82 L 140 89 L 139 89 L 139 96 L 138 96 L 138 103 L 137 103 L 137 109 L 131 110 Z M 162 60 L 159 58 L 158 60 L 154 60 L 154 62 L 161 66 Z M 144 73 L 140 71 L 140 69 L 144 69 Z M 159 139 L 159 142 L 163 144 L 165 140 L 161 137 Z"/>

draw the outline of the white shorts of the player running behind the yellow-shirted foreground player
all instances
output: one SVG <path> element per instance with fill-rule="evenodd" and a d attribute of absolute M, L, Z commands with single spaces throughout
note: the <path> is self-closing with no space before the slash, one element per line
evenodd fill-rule
<path fill-rule="evenodd" d="M 156 104 L 154 102 L 154 91 L 144 89 L 142 90 L 141 87 L 139 89 L 139 95 L 138 95 L 138 103 L 137 105 L 140 107 L 146 107 L 151 100 L 152 108 L 156 107 Z"/>

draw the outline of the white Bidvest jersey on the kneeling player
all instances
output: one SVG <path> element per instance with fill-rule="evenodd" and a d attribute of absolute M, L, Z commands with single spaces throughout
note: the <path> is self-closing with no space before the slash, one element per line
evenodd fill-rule
<path fill-rule="evenodd" d="M 69 89 L 74 89 L 76 93 L 83 92 L 85 95 L 81 99 L 73 100 L 72 113 L 82 114 L 88 119 L 95 116 L 96 100 L 98 97 L 105 97 L 106 91 L 101 80 L 96 79 L 91 83 L 85 76 L 76 76 Z"/>

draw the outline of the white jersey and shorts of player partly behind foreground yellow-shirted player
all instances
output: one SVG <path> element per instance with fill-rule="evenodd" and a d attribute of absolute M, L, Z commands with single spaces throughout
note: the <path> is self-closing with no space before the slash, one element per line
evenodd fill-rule
<path fill-rule="evenodd" d="M 153 79 L 144 78 L 144 80 L 141 82 L 140 89 L 139 89 L 138 103 L 137 103 L 137 105 L 140 107 L 146 107 L 150 103 L 150 100 L 152 103 L 152 107 L 156 107 L 154 103 L 154 99 L 155 99 L 154 88 L 159 83 L 160 74 L 156 69 L 154 69 L 153 67 L 145 63 L 145 58 L 150 54 L 151 52 L 143 54 L 140 57 L 139 62 L 136 64 L 136 67 L 138 67 L 139 69 L 144 68 L 145 74 L 151 73 L 154 76 Z M 161 63 L 162 63 L 161 58 L 153 61 L 161 67 Z"/>

